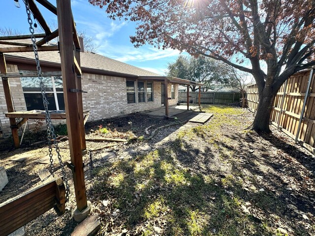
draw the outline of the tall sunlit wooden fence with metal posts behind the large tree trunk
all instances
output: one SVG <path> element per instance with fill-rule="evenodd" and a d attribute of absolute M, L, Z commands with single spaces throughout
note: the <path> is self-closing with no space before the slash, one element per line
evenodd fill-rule
<path fill-rule="evenodd" d="M 285 134 L 315 154 L 314 69 L 292 75 L 279 89 L 270 121 Z M 247 87 L 248 107 L 254 112 L 259 100 L 257 86 Z M 303 107 L 304 113 L 303 113 Z"/>

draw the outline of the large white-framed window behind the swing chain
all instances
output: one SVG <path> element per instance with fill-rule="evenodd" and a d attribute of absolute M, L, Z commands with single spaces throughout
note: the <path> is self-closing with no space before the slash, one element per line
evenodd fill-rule
<path fill-rule="evenodd" d="M 21 77 L 21 84 L 28 111 L 45 110 L 37 77 Z M 60 76 L 43 77 L 46 97 L 49 102 L 48 109 L 64 110 L 63 79 Z"/>

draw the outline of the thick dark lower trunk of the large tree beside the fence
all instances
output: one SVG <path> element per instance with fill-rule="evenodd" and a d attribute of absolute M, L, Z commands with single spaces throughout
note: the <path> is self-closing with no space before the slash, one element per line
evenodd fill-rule
<path fill-rule="evenodd" d="M 264 88 L 259 94 L 259 103 L 251 126 L 251 129 L 255 130 L 257 133 L 271 132 L 269 122 L 275 96 L 276 94 L 274 94 L 270 88 Z"/>

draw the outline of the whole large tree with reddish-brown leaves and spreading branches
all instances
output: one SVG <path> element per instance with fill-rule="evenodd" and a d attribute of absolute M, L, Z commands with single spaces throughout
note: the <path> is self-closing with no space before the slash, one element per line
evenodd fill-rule
<path fill-rule="evenodd" d="M 285 80 L 315 65 L 315 0 L 89 1 L 112 19 L 137 22 L 135 47 L 185 50 L 251 73 L 259 95 L 256 131 L 270 132 L 272 104 Z"/>

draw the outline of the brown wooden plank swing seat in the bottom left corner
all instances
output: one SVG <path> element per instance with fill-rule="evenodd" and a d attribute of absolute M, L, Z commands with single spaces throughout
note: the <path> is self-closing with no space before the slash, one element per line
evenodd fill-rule
<path fill-rule="evenodd" d="M 47 172 L 38 173 L 42 180 L 40 186 L 0 204 L 0 236 L 11 234 L 51 208 L 55 208 L 58 215 L 64 213 L 63 179 L 48 176 Z"/>

